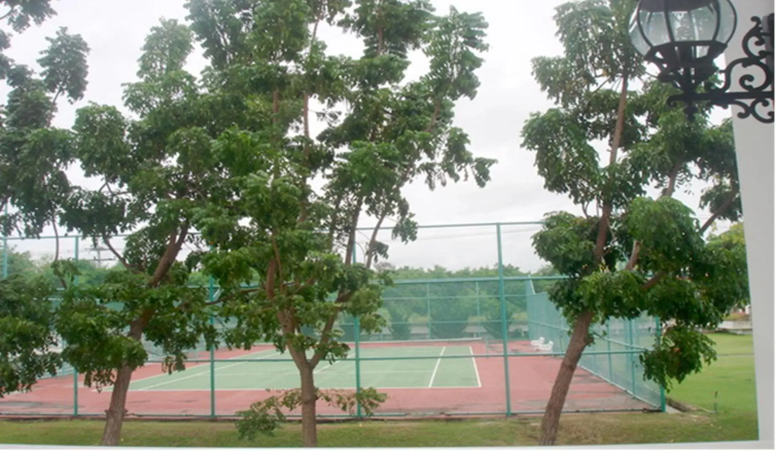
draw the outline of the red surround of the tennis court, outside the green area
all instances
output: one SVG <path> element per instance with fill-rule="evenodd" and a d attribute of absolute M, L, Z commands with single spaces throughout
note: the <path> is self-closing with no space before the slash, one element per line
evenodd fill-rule
<path fill-rule="evenodd" d="M 444 346 L 445 342 L 435 342 Z M 450 346 L 460 345 L 451 341 Z M 367 342 L 361 349 L 369 347 L 396 346 L 395 343 Z M 425 344 L 428 346 L 428 343 Z M 404 415 L 445 415 L 484 413 L 504 413 L 507 410 L 506 388 L 504 383 L 504 357 L 493 350 L 488 350 L 481 341 L 470 344 L 474 355 L 474 366 L 478 373 L 479 387 L 414 387 L 414 388 L 384 388 L 378 390 L 388 395 L 387 401 L 376 411 L 380 414 Z M 509 394 L 511 396 L 511 411 L 513 413 L 530 413 L 543 411 L 553 381 L 558 372 L 561 357 L 531 356 L 531 345 L 528 342 L 511 342 L 511 352 L 525 352 L 525 355 L 509 358 Z M 234 359 L 249 353 L 269 349 L 269 346 L 256 347 L 250 352 L 229 351 L 218 352 L 218 359 Z M 442 351 L 444 352 L 444 350 Z M 201 356 L 201 354 L 200 354 Z M 200 357 L 201 358 L 201 357 Z M 325 363 L 322 363 L 325 364 Z M 188 368 L 209 366 L 210 363 L 191 363 Z M 268 363 L 250 363 L 250 365 L 272 365 Z M 363 363 L 362 363 L 363 365 Z M 142 380 L 161 374 L 161 365 L 148 364 L 137 369 L 133 381 Z M 257 372 L 257 378 L 261 373 Z M 74 414 L 74 380 L 73 376 L 58 376 L 41 380 L 27 393 L 9 394 L 0 399 L 0 415 L 73 415 Z M 433 377 L 432 377 L 433 379 Z M 110 401 L 110 391 L 98 393 L 92 388 L 81 385 L 78 387 L 78 414 L 104 415 Z M 348 381 L 352 383 L 352 381 Z M 261 387 L 259 382 L 257 387 Z M 345 387 L 345 385 L 343 385 Z M 267 390 L 215 390 L 216 415 L 234 415 L 236 411 L 244 410 L 255 401 L 261 401 L 272 392 Z M 130 390 L 126 409 L 128 415 L 210 415 L 210 390 L 181 390 L 170 386 L 169 390 Z M 624 390 L 588 373 L 577 369 L 566 399 L 566 411 L 623 411 L 655 409 L 654 406 L 632 397 Z M 344 412 L 331 408 L 319 401 L 319 415 L 343 415 Z M 296 414 L 298 412 L 292 412 Z"/>

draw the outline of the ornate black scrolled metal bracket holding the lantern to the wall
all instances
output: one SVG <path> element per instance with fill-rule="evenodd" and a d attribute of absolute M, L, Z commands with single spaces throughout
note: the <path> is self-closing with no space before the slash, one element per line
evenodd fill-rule
<path fill-rule="evenodd" d="M 740 106 L 743 111 L 738 113 L 741 119 L 752 116 L 762 123 L 774 122 L 774 15 L 770 14 L 760 19 L 752 17 L 754 26 L 743 36 L 741 47 L 746 56 L 741 57 L 728 64 L 724 71 L 719 71 L 725 77 L 724 84 L 717 88 L 712 83 L 705 83 L 704 92 L 695 92 L 696 83 L 684 85 L 680 80 L 670 80 L 682 92 L 678 95 L 672 95 L 668 98 L 668 104 L 673 106 L 677 102 L 685 104 L 684 113 L 688 119 L 692 120 L 698 108 L 697 102 L 708 102 L 713 106 L 722 106 L 727 108 L 730 105 Z M 760 47 L 759 50 L 753 50 L 753 47 Z M 752 74 L 741 75 L 738 78 L 738 87 L 742 88 L 740 92 L 728 92 L 733 85 L 733 69 L 736 66 L 742 68 L 757 67 L 763 73 L 763 81 L 757 85 L 755 76 Z M 682 86 L 684 85 L 684 86 Z M 761 113 L 761 108 L 770 111 Z M 760 108 L 758 108 L 760 107 Z"/>

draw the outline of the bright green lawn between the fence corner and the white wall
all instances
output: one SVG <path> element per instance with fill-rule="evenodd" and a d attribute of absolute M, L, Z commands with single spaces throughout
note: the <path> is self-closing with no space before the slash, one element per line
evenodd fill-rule
<path fill-rule="evenodd" d="M 757 428 L 757 392 L 754 387 L 754 356 L 751 335 L 713 334 L 718 358 L 700 373 L 692 374 L 674 386 L 669 397 L 684 404 L 723 413 L 753 412 Z M 741 354 L 750 354 L 741 356 Z"/>

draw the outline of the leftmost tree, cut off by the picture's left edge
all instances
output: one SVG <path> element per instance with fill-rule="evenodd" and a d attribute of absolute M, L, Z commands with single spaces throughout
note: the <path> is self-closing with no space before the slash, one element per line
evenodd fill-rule
<path fill-rule="evenodd" d="M 49 0 L 4 0 L 0 20 L 23 33 L 54 16 Z M 10 91 L 0 109 L 0 233 L 39 236 L 54 226 L 57 205 L 69 184 L 64 166 L 71 161 L 71 133 L 52 127 L 57 101 L 83 97 L 88 46 L 61 28 L 36 61 L 36 73 L 4 52 L 11 47 L 9 29 L 0 29 L 0 79 Z M 55 258 L 59 256 L 59 249 Z M 47 285 L 29 255 L 10 252 L 9 277 L 0 280 L 0 396 L 29 390 L 61 363 L 54 332 L 55 314 Z"/>

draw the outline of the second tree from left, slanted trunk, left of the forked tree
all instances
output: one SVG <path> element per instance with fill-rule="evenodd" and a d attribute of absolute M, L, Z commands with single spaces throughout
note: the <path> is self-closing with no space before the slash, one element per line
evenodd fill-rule
<path fill-rule="evenodd" d="M 74 284 L 77 266 L 61 262 L 55 270 L 66 290 L 56 328 L 67 343 L 63 359 L 85 385 L 113 386 L 103 445 L 119 443 L 132 373 L 148 359 L 144 342 L 161 349 L 171 372 L 184 369 L 185 350 L 216 339 L 207 290 L 187 286 L 192 268 L 178 260 L 184 245 L 205 246 L 193 234 L 196 210 L 224 196 L 211 144 L 226 127 L 183 69 L 192 49 L 187 26 L 161 20 L 147 36 L 139 81 L 126 85 L 124 102 L 137 120 L 97 104 L 76 113 L 74 158 L 102 184 L 73 186 L 60 221 L 109 248 L 123 269 L 106 272 L 102 283 Z M 120 250 L 116 235 L 126 233 Z"/>

